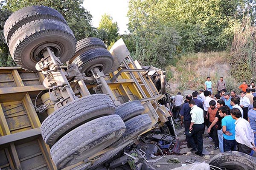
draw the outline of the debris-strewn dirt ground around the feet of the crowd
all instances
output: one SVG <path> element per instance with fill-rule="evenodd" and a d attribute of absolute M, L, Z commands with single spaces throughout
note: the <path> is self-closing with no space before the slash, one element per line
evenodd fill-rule
<path fill-rule="evenodd" d="M 179 124 L 180 122 L 177 122 L 177 124 Z M 213 150 L 214 148 L 214 143 L 210 142 L 211 139 L 207 138 L 206 136 L 208 135 L 207 133 L 207 128 L 205 130 L 205 133 L 203 135 L 203 141 L 204 141 L 204 149 L 206 149 L 207 151 L 210 152 L 209 156 L 198 156 L 198 155 L 195 155 L 195 153 L 191 153 L 190 152 L 190 149 L 191 148 L 187 148 L 186 146 L 186 141 L 185 141 L 185 135 L 183 134 L 184 133 L 184 126 L 183 127 L 180 127 L 178 126 L 176 128 L 176 133 L 177 133 L 177 136 L 180 140 L 180 155 L 175 155 L 175 154 L 172 154 L 172 155 L 165 155 L 162 159 L 160 159 L 159 161 L 157 162 L 154 162 L 154 163 L 150 163 L 155 169 L 157 170 L 171 170 L 173 168 L 176 168 L 176 167 L 181 167 L 182 164 L 189 164 L 189 163 L 186 163 L 185 161 L 191 161 L 192 160 L 196 160 L 198 162 L 206 162 L 208 163 L 210 159 L 212 159 L 215 155 L 217 155 L 219 152 L 219 149 L 218 150 Z M 155 159 L 159 158 L 160 156 L 157 156 Z M 208 158 L 207 158 L 208 157 Z M 179 163 L 173 163 L 174 159 L 178 159 Z M 151 159 L 151 160 L 154 160 L 154 159 Z M 170 162 L 172 161 L 172 162 Z"/>

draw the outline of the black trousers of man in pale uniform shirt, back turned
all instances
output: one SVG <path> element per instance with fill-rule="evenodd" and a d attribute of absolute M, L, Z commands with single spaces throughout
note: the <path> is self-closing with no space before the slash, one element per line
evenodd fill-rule
<path fill-rule="evenodd" d="M 197 141 L 197 148 L 198 148 L 198 153 L 203 152 L 203 133 L 204 133 L 204 124 L 194 124 L 192 126 L 191 130 L 191 136 L 189 136 L 190 144 L 193 149 L 196 148 L 196 143 L 195 140 Z M 195 139 L 194 139 L 195 137 Z"/>

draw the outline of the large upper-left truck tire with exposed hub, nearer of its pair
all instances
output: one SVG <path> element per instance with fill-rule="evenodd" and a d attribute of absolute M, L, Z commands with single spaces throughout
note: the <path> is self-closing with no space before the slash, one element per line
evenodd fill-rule
<path fill-rule="evenodd" d="M 76 48 L 76 38 L 70 28 L 58 20 L 35 20 L 20 27 L 12 36 L 9 51 L 18 66 L 37 71 L 35 65 L 50 47 L 61 62 L 66 62 Z"/>

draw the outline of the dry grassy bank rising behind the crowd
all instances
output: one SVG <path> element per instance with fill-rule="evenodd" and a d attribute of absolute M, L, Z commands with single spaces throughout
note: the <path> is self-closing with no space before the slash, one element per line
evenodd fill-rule
<path fill-rule="evenodd" d="M 224 51 L 189 53 L 181 56 L 176 67 L 168 66 L 166 68 L 171 93 L 186 89 L 204 89 L 204 82 L 208 76 L 211 77 L 212 87 L 215 87 L 220 77 L 224 77 L 225 81 L 228 82 L 227 89 L 236 90 L 239 84 L 230 77 L 228 56 L 229 54 Z"/>

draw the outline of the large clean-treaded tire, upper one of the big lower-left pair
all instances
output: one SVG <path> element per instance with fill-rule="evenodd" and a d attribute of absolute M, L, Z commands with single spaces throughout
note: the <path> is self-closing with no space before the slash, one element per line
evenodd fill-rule
<path fill-rule="evenodd" d="M 50 147 L 61 136 L 91 119 L 111 115 L 115 105 L 105 94 L 93 94 L 76 99 L 50 114 L 41 125 L 42 137 Z"/>

